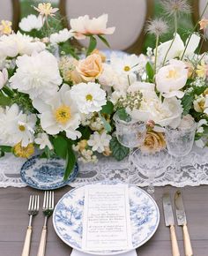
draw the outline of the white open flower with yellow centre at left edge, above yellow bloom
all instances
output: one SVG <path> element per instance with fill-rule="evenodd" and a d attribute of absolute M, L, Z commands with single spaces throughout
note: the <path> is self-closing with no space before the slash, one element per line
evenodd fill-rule
<path fill-rule="evenodd" d="M 33 142 L 36 120 L 34 114 L 23 114 L 17 104 L 6 107 L 4 112 L 0 113 L 1 143 L 14 146 L 21 142 L 22 147 L 26 147 Z"/>

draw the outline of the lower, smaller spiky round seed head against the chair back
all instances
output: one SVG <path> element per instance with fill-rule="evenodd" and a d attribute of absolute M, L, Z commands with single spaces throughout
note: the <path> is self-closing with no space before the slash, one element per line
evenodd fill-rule
<path fill-rule="evenodd" d="M 167 33 L 167 23 L 163 19 L 153 19 L 148 22 L 147 33 L 154 34 L 156 37 Z"/>

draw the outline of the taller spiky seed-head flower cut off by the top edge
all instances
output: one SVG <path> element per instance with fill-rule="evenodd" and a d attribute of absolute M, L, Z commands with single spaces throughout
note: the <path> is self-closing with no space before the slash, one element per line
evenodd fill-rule
<path fill-rule="evenodd" d="M 191 11 L 187 0 L 162 0 L 161 4 L 169 16 Z"/>

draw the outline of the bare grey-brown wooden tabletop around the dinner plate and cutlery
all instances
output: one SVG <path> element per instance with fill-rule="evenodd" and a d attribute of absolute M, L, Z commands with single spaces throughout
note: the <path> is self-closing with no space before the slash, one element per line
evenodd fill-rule
<path fill-rule="evenodd" d="M 56 190 L 56 202 L 64 193 L 70 190 L 69 186 Z M 171 256 L 169 229 L 165 226 L 162 210 L 162 194 L 170 192 L 174 198 L 175 187 L 157 187 L 155 200 L 160 208 L 160 225 L 154 236 L 143 246 L 137 249 L 139 256 Z M 20 256 L 28 224 L 28 199 L 31 193 L 41 196 L 43 192 L 32 188 L 1 188 L 0 189 L 0 256 Z M 208 185 L 182 188 L 184 205 L 188 219 L 189 234 L 191 237 L 194 256 L 208 255 Z M 41 236 L 43 215 L 33 218 L 33 237 L 30 256 L 36 256 Z M 182 228 L 176 227 L 181 256 L 185 255 L 182 242 Z M 52 226 L 52 218 L 48 221 L 48 244 L 46 256 L 69 256 L 71 248 L 65 245 Z"/>

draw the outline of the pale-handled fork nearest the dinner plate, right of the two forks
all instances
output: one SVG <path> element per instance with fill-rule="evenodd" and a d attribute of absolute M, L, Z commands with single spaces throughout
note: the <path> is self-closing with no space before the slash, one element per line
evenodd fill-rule
<path fill-rule="evenodd" d="M 45 215 L 44 224 L 41 232 L 41 241 L 39 244 L 37 256 L 44 256 L 46 251 L 46 240 L 47 240 L 47 222 L 48 217 L 53 214 L 54 210 L 54 192 L 46 191 L 44 193 L 44 200 L 42 206 L 42 212 Z"/>

